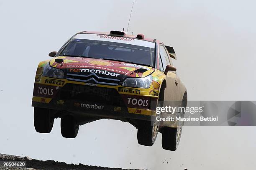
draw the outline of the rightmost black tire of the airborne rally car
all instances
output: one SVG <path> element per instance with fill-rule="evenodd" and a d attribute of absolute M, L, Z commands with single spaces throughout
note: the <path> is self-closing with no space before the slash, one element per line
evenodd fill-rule
<path fill-rule="evenodd" d="M 182 126 L 180 128 L 182 128 Z M 181 135 L 180 132 L 178 137 L 178 131 L 179 128 L 164 127 L 164 129 L 162 129 L 162 147 L 164 150 L 177 150 Z"/>

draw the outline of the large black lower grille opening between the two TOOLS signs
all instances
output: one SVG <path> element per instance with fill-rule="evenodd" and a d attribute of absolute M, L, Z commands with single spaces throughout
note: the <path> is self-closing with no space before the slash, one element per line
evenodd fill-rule
<path fill-rule="evenodd" d="M 111 88 L 66 84 L 58 94 L 59 99 L 63 100 L 88 101 L 118 107 L 125 106 L 118 91 Z"/>

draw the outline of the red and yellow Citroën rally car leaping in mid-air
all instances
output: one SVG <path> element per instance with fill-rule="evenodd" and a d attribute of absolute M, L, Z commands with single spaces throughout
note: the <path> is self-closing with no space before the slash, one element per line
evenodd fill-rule
<path fill-rule="evenodd" d="M 156 119 L 169 116 L 156 114 L 164 101 L 187 104 L 187 89 L 172 65 L 172 47 L 143 34 L 82 31 L 49 56 L 53 58 L 41 61 L 36 71 L 36 132 L 51 132 L 60 117 L 62 136 L 75 138 L 80 125 L 117 119 L 138 129 L 139 144 L 152 146 L 161 132 L 162 147 L 177 149 L 180 121 Z"/>

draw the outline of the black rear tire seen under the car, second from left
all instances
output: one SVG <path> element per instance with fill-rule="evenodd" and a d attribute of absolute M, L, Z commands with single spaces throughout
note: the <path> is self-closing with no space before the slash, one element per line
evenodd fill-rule
<path fill-rule="evenodd" d="M 61 117 L 61 135 L 66 138 L 75 138 L 79 130 L 79 124 L 77 124 L 74 117 L 67 115 Z"/>

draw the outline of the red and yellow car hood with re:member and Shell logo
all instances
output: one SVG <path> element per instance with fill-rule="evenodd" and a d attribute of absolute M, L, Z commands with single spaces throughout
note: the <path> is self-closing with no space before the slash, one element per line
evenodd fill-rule
<path fill-rule="evenodd" d="M 121 82 L 128 77 L 143 78 L 154 72 L 154 68 L 138 64 L 82 57 L 55 57 L 50 65 L 63 70 L 65 76 L 95 76 Z"/>

